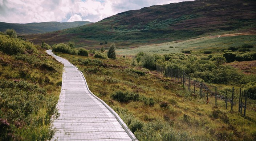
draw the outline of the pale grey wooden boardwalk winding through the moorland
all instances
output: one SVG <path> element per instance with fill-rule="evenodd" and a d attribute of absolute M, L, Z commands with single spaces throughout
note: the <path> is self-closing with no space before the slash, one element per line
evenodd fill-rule
<path fill-rule="evenodd" d="M 62 64 L 62 86 L 53 121 L 52 140 L 137 140 L 122 119 L 88 88 L 84 75 L 66 59 L 46 51 Z"/>

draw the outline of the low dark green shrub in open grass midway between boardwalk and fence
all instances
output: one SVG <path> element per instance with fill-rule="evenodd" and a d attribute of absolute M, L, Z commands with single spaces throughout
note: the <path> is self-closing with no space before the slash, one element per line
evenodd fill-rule
<path fill-rule="evenodd" d="M 130 101 L 138 101 L 139 94 L 131 93 L 131 92 L 123 92 L 123 91 L 116 91 L 115 93 L 110 95 L 112 99 L 118 102 L 130 102 Z"/>

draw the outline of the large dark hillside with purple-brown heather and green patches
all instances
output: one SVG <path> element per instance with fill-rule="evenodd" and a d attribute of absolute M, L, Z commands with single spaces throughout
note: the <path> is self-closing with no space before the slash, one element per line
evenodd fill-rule
<path fill-rule="evenodd" d="M 78 46 L 95 46 L 100 42 L 133 46 L 208 35 L 255 33 L 255 7 L 253 0 L 200 0 L 156 5 L 122 12 L 90 25 L 24 38 L 34 43 L 72 40 Z"/>

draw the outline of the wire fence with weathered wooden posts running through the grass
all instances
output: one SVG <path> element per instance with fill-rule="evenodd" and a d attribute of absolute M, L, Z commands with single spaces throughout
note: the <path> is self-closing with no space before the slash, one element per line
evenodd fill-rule
<path fill-rule="evenodd" d="M 156 66 L 157 72 L 176 80 L 182 84 L 185 90 L 191 91 L 195 96 L 206 98 L 207 104 L 218 107 L 230 108 L 244 117 L 256 117 L 256 94 L 249 93 L 243 88 L 220 87 L 197 81 L 179 69 Z"/>

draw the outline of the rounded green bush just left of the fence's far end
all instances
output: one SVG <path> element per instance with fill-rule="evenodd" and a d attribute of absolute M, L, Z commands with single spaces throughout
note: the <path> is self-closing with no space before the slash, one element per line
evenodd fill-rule
<path fill-rule="evenodd" d="M 155 69 L 155 57 L 150 54 L 145 54 L 141 58 L 142 67 L 154 70 Z"/>

